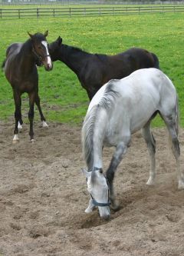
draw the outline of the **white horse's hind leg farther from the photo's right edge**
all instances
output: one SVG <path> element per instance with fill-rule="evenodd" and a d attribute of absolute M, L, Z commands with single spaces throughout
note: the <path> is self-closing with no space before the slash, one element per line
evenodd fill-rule
<path fill-rule="evenodd" d="M 151 160 L 149 179 L 146 182 L 146 185 L 154 185 L 155 177 L 156 177 L 156 161 L 155 161 L 156 141 L 150 130 L 150 121 L 148 121 L 147 124 L 142 128 L 142 135 L 146 141 L 146 144 L 149 150 L 150 160 Z"/>

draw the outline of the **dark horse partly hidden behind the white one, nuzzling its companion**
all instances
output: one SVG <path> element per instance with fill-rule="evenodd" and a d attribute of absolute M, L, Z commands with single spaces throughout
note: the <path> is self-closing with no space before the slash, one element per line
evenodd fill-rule
<path fill-rule="evenodd" d="M 53 62 L 64 62 L 77 75 L 87 95 L 93 98 L 99 88 L 110 79 L 124 78 L 140 68 L 159 68 L 155 54 L 141 48 L 130 48 L 118 55 L 90 54 L 62 44 L 62 38 L 49 44 Z"/>

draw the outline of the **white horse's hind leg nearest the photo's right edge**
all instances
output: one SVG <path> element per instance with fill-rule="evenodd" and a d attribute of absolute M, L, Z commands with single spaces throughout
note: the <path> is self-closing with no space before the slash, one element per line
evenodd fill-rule
<path fill-rule="evenodd" d="M 176 158 L 176 165 L 177 165 L 177 173 L 178 173 L 178 181 L 179 189 L 184 189 L 184 173 L 182 172 L 180 168 L 180 148 L 179 148 L 179 140 L 178 140 L 178 116 L 177 111 L 172 113 L 172 115 L 164 116 L 162 113 L 161 117 L 166 123 L 166 126 L 169 130 L 169 135 L 172 141 L 172 153 L 174 157 Z"/>

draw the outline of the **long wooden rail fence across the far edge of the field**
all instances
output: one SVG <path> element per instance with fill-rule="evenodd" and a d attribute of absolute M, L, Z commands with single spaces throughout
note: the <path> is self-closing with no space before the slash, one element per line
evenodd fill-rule
<path fill-rule="evenodd" d="M 85 7 L 85 8 L 0 8 L 0 18 L 41 18 L 103 16 L 103 15 L 132 15 L 163 12 L 184 12 L 184 5 L 159 6 L 122 6 L 122 7 Z"/>

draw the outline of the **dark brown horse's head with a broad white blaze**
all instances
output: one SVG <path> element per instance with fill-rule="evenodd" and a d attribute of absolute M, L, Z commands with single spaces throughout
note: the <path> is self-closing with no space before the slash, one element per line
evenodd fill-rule
<path fill-rule="evenodd" d="M 31 38 L 32 50 L 35 56 L 38 58 L 38 62 L 41 62 L 44 65 L 45 70 L 51 70 L 52 62 L 51 56 L 48 52 L 48 42 L 46 39 L 48 31 L 46 31 L 44 34 L 36 33 L 35 35 L 31 35 L 28 32 L 28 35 Z"/>

